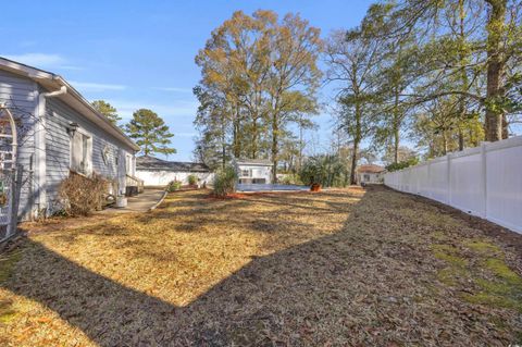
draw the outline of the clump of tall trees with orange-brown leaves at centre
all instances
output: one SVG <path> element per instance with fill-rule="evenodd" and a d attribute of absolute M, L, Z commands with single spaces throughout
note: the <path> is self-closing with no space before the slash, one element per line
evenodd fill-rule
<path fill-rule="evenodd" d="M 270 158 L 275 175 L 283 148 L 302 152 L 290 126 L 310 127 L 319 112 L 321 45 L 319 28 L 272 11 L 237 11 L 213 30 L 196 57 L 197 157 L 214 168 L 233 157 Z"/>

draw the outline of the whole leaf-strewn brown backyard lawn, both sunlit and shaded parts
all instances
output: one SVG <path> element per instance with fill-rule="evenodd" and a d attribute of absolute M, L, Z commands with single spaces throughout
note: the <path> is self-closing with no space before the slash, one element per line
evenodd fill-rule
<path fill-rule="evenodd" d="M 0 255 L 2 346 L 522 343 L 522 236 L 386 188 L 25 227 Z"/>

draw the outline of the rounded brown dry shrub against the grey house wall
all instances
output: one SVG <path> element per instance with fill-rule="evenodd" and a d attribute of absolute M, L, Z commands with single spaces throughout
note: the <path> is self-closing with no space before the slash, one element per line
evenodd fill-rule
<path fill-rule="evenodd" d="M 72 172 L 59 188 L 65 214 L 89 215 L 92 211 L 100 210 L 108 184 L 109 181 L 98 174 L 86 177 Z"/>

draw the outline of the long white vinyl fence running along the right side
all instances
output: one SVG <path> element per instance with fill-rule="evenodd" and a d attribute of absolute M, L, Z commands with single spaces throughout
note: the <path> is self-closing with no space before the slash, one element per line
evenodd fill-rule
<path fill-rule="evenodd" d="M 522 136 L 387 173 L 384 184 L 522 233 Z"/>

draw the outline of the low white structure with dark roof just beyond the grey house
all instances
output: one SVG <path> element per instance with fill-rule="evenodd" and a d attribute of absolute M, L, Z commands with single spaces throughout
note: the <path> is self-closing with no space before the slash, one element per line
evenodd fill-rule
<path fill-rule="evenodd" d="M 202 163 L 166 161 L 150 156 L 136 158 L 136 176 L 146 186 L 166 186 L 173 181 L 188 184 L 188 176 L 198 177 L 199 185 L 212 184 L 214 174 Z"/>

